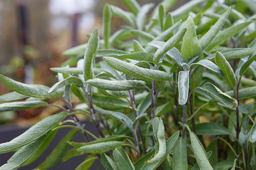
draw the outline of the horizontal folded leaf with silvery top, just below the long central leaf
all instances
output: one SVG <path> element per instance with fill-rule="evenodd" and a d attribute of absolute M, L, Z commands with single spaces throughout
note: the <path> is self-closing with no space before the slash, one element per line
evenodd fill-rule
<path fill-rule="evenodd" d="M 90 79 L 86 83 L 104 90 L 127 91 L 135 88 L 144 87 L 146 83 L 142 80 L 104 80 Z"/>

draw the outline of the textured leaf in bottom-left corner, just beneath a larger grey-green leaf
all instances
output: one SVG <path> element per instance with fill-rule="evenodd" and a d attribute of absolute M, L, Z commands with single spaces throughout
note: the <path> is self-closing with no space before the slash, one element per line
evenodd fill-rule
<path fill-rule="evenodd" d="M 14 170 L 18 169 L 22 164 L 24 164 L 30 156 L 32 156 L 38 147 L 40 147 L 43 141 L 47 138 L 47 134 L 42 135 L 35 141 L 29 143 L 26 146 L 20 148 L 9 160 L 7 163 L 0 167 L 1 170 Z"/>

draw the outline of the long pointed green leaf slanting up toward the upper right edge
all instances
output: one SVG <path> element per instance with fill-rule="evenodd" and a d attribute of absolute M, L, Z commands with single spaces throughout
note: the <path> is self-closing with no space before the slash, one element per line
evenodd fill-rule
<path fill-rule="evenodd" d="M 222 42 L 226 41 L 229 37 L 237 34 L 242 31 L 243 28 L 247 27 L 252 21 L 244 22 L 241 24 L 233 25 L 232 27 L 224 29 L 224 31 L 219 32 L 214 39 L 210 42 L 210 44 L 205 48 L 207 52 L 212 50 L 217 45 L 220 45 Z"/>

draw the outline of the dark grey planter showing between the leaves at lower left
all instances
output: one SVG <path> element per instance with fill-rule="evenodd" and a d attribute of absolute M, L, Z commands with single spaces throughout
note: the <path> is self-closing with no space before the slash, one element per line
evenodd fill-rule
<path fill-rule="evenodd" d="M 89 130 L 95 135 L 98 135 L 97 129 L 92 124 L 92 122 L 86 120 L 86 121 L 83 121 L 82 124 L 85 124 L 85 129 Z M 26 131 L 28 128 L 20 128 L 16 125 L 0 126 L 0 143 L 11 141 L 13 138 L 18 137 L 18 135 L 24 133 L 24 131 Z M 56 133 L 55 137 L 53 138 L 52 142 L 50 143 L 46 151 L 44 151 L 44 153 L 39 157 L 39 159 L 35 160 L 35 162 L 33 162 L 32 164 L 27 165 L 26 167 L 20 167 L 19 169 L 28 170 L 28 169 L 34 169 L 38 167 L 40 163 L 44 162 L 44 160 L 51 153 L 53 148 L 55 148 L 57 143 L 59 143 L 59 141 L 68 133 L 69 130 L 71 130 L 71 128 L 59 129 L 59 131 Z M 73 141 L 85 142 L 85 139 L 80 133 L 77 133 Z M 14 152 L 0 154 L 0 166 L 7 163 L 7 160 L 10 159 L 13 154 Z M 80 163 L 82 163 L 85 160 L 86 156 L 87 155 L 73 157 L 67 160 L 66 162 L 59 162 L 55 166 L 49 169 L 55 169 L 55 170 L 56 169 L 75 169 Z M 90 167 L 90 169 L 97 169 L 98 167 L 100 167 L 100 165 L 101 165 L 100 160 L 96 160 L 96 162 L 94 162 L 94 164 L 92 165 L 92 167 Z"/>

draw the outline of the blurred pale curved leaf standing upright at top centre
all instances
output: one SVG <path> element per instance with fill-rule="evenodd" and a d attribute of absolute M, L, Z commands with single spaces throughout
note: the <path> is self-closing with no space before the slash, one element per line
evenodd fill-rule
<path fill-rule="evenodd" d="M 136 25 L 137 25 L 139 30 L 143 29 L 143 27 L 146 23 L 147 13 L 151 10 L 152 7 L 154 7 L 154 3 L 146 3 L 138 11 L 138 15 L 137 15 L 137 18 L 136 18 Z"/>

